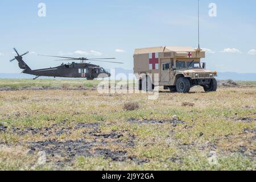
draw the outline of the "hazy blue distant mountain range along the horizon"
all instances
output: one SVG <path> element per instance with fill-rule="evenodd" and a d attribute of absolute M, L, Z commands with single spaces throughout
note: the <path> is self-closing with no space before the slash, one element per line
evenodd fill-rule
<path fill-rule="evenodd" d="M 108 70 L 110 71 L 110 70 Z M 129 74 L 133 74 L 133 70 L 115 68 L 115 75 L 124 74 L 128 77 Z M 0 73 L 0 78 L 34 78 L 35 76 L 20 74 L 20 73 Z M 40 77 L 40 78 L 49 78 L 49 77 Z M 236 72 L 219 72 L 218 80 L 234 80 L 234 81 L 256 81 L 256 73 L 236 73 Z"/>

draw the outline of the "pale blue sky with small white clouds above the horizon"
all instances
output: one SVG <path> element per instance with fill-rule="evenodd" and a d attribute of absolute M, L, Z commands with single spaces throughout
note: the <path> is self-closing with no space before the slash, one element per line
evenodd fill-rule
<path fill-rule="evenodd" d="M 46 17 L 38 4 L 46 4 Z M 210 17 L 216 3 L 217 17 Z M 201 48 L 208 68 L 219 72 L 256 73 L 256 1 L 201 0 Z M 0 73 L 18 73 L 13 47 L 31 51 L 24 60 L 33 69 L 60 63 L 37 54 L 117 57 L 133 69 L 135 48 L 197 47 L 197 1 L 0 1 Z"/>

